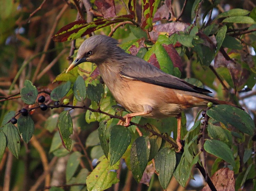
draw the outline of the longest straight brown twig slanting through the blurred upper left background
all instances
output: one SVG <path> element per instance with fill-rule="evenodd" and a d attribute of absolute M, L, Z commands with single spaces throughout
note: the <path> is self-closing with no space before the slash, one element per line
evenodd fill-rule
<path fill-rule="evenodd" d="M 59 19 L 63 15 L 63 13 L 66 11 L 67 8 L 68 8 L 68 4 L 65 4 L 63 6 L 63 8 L 60 10 L 59 14 L 57 15 L 57 17 L 55 19 L 55 22 L 53 23 L 53 26 L 51 28 L 51 31 L 50 31 L 50 33 L 48 35 L 48 38 L 47 38 L 47 40 L 45 42 L 45 46 L 44 46 L 43 52 L 46 52 L 48 50 L 50 42 L 52 40 L 52 36 L 53 36 L 53 34 L 55 32 L 55 28 L 57 27 L 57 24 L 59 22 Z M 42 66 L 42 64 L 44 62 L 45 57 L 46 57 L 46 54 L 43 54 L 42 57 L 40 58 L 39 63 L 37 65 L 37 68 L 35 69 L 35 72 L 34 72 L 34 75 L 33 75 L 33 78 L 32 78 L 32 83 L 35 82 L 35 80 L 36 80 L 36 78 L 38 76 L 38 73 L 39 73 L 39 71 L 41 69 L 41 66 Z"/>

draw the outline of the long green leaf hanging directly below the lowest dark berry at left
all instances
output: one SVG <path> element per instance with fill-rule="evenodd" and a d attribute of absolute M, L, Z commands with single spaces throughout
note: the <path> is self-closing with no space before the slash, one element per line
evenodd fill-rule
<path fill-rule="evenodd" d="M 12 123 L 8 123 L 3 127 L 3 133 L 7 138 L 8 149 L 18 159 L 20 150 L 20 138 L 18 129 Z"/>

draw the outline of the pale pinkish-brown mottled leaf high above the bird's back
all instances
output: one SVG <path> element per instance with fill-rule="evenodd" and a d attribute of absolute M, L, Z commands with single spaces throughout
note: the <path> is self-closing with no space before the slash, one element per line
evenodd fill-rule
<path fill-rule="evenodd" d="M 185 31 L 189 25 L 183 22 L 168 22 L 164 24 L 156 24 L 153 26 L 153 30 L 150 32 L 152 40 L 156 41 L 160 34 L 167 34 L 171 36 L 173 33 L 179 31 Z"/>

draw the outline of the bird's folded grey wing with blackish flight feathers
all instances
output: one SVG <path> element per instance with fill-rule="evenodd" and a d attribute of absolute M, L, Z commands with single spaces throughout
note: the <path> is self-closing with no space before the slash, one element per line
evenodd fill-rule
<path fill-rule="evenodd" d="M 124 60 L 123 60 L 124 61 Z M 167 88 L 179 89 L 197 93 L 211 93 L 211 91 L 191 85 L 175 76 L 167 74 L 141 58 L 134 56 L 127 59 L 120 70 L 120 75 L 132 80 L 155 84 Z M 143 73 L 143 75 L 141 75 Z"/>

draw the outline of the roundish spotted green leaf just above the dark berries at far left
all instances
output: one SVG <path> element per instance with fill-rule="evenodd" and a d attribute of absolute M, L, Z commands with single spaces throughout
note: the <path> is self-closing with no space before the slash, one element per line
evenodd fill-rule
<path fill-rule="evenodd" d="M 22 101 L 26 104 L 34 104 L 37 99 L 37 88 L 29 80 L 25 80 L 24 88 L 20 90 L 20 96 Z"/>

